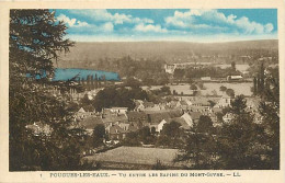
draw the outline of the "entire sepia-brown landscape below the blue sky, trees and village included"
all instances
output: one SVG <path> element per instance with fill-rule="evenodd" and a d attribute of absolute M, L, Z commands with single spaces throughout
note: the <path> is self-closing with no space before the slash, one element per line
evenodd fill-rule
<path fill-rule="evenodd" d="M 10 18 L 10 171 L 280 169 L 276 38 L 83 42 L 52 10 Z"/>

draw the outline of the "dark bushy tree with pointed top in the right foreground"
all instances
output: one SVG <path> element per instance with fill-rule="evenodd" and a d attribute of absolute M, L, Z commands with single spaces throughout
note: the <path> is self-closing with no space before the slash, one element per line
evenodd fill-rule
<path fill-rule="evenodd" d="M 244 96 L 232 101 L 229 113 L 232 118 L 224 123 L 218 135 L 219 168 L 223 169 L 264 169 L 262 161 L 263 142 L 261 127 L 254 116 L 247 111 Z"/>

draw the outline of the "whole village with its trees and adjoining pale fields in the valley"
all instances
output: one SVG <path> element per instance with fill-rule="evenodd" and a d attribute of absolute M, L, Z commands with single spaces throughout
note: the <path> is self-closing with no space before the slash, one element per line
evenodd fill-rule
<path fill-rule="evenodd" d="M 260 67 L 264 67 L 263 62 L 261 59 Z M 178 159 L 187 135 L 204 124 L 205 135 L 210 131 L 215 138 L 225 124 L 230 124 L 236 117 L 230 107 L 237 96 L 246 100 L 246 111 L 254 114 L 253 122 L 262 122 L 259 113 L 261 99 L 256 95 L 261 78 L 250 77 L 249 66 L 240 67 L 232 62 L 225 68 L 229 75 L 224 75 L 224 78 L 212 78 L 206 73 L 189 80 L 175 76 L 178 71 L 209 67 L 204 62 L 164 65 L 162 69 L 168 75 L 164 85 L 144 85 L 142 80 L 136 77 L 112 81 L 105 76 L 88 75 L 83 76 L 86 79 L 70 81 L 75 88 L 66 91 L 52 88 L 48 91 L 72 105 L 70 125 L 83 129 L 86 135 L 82 160 L 103 163 L 103 169 L 121 169 L 122 163 L 123 169 L 151 169 L 166 153 L 168 158 L 162 163 L 168 169 L 181 169 L 182 162 L 173 163 L 170 159 Z M 215 67 L 219 69 L 220 66 Z M 264 69 L 266 73 L 272 68 L 276 65 L 258 69 Z M 41 122 L 26 128 L 36 136 L 50 136 L 53 131 Z M 138 162 L 136 158 L 114 158 L 115 153 L 123 152 L 142 159 L 150 156 L 151 160 L 147 163 L 146 160 Z"/>

